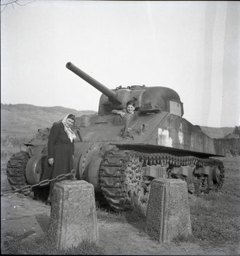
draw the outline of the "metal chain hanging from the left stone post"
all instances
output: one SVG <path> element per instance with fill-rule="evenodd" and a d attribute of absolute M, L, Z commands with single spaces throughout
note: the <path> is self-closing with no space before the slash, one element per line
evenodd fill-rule
<path fill-rule="evenodd" d="M 76 180 L 76 169 L 72 169 L 71 172 L 68 172 L 66 174 L 63 175 L 57 175 L 57 177 L 55 177 L 54 179 L 50 179 L 50 180 L 41 180 L 39 183 L 34 184 L 34 185 L 25 185 L 22 188 L 16 189 L 15 191 L 5 191 L 1 193 L 1 196 L 3 196 L 5 193 L 17 193 L 17 192 L 26 192 L 31 190 L 32 188 L 36 187 L 36 186 L 44 186 L 44 185 L 48 185 L 51 181 L 54 180 L 63 180 L 65 177 L 68 176 L 73 176 L 71 178 L 71 180 Z"/>

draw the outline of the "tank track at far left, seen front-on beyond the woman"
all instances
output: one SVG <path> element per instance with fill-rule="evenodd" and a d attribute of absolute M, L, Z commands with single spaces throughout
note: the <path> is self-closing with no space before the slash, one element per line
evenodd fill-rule
<path fill-rule="evenodd" d="M 25 168 L 28 163 L 28 153 L 21 151 L 15 153 L 7 163 L 7 180 L 13 190 L 28 185 L 25 177 Z"/>

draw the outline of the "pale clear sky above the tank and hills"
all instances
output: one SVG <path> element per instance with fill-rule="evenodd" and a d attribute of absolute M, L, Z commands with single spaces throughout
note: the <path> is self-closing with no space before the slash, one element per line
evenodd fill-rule
<path fill-rule="evenodd" d="M 97 111 L 70 61 L 109 89 L 174 89 L 194 125 L 240 125 L 239 1 L 18 3 L 1 7 L 1 103 Z"/>

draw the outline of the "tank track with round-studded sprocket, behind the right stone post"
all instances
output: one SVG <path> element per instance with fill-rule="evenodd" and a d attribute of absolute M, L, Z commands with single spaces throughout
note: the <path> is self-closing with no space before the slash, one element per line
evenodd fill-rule
<path fill-rule="evenodd" d="M 167 153 L 141 153 L 136 151 L 113 151 L 103 159 L 100 167 L 100 187 L 108 204 L 114 209 L 124 210 L 132 206 L 146 211 L 151 180 L 142 171 L 142 167 L 157 165 L 165 168 L 162 177 L 181 178 L 187 181 L 185 175 L 171 175 L 172 167 L 214 167 L 217 166 L 220 175 L 218 183 L 214 184 L 217 191 L 223 185 L 224 166 L 217 159 L 200 159 L 196 156 L 174 156 Z M 209 184 L 204 177 L 199 180 L 202 191 L 207 191 Z M 140 196 L 139 196 L 140 195 Z"/>

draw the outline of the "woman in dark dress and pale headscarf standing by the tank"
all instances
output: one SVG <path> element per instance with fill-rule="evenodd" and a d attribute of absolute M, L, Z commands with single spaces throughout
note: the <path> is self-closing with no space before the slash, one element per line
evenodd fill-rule
<path fill-rule="evenodd" d="M 74 140 L 76 135 L 71 127 L 73 127 L 75 120 L 76 116 L 68 114 L 62 121 L 52 125 L 47 143 L 47 164 L 51 168 L 46 168 L 41 180 L 54 179 L 57 175 L 68 173 L 73 169 Z M 50 183 L 47 204 L 50 204 L 52 201 L 52 188 L 56 182 L 52 181 Z"/>

